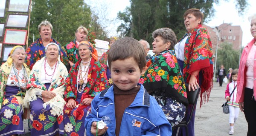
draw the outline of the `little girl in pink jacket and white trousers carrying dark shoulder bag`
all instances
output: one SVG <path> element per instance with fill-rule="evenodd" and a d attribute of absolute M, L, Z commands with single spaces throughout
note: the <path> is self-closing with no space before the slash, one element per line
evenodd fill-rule
<path fill-rule="evenodd" d="M 229 123 L 230 123 L 230 131 L 229 134 L 233 135 L 234 134 L 234 123 L 238 119 L 239 116 L 239 104 L 236 103 L 236 93 L 237 89 L 233 92 L 233 94 L 230 96 L 234 88 L 236 87 L 236 80 L 238 76 L 238 69 L 235 69 L 231 73 L 231 77 L 229 79 L 230 83 L 227 84 L 227 89 L 225 91 L 225 98 L 227 99 L 227 105 L 229 107 L 230 111 L 230 117 L 229 117 Z"/>

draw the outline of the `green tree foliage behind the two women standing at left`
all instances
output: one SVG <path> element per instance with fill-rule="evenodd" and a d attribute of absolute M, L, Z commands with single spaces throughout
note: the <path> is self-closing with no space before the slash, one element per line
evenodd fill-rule
<path fill-rule="evenodd" d="M 83 0 L 32 0 L 29 44 L 40 37 L 38 25 L 43 20 L 52 24 L 52 37 L 62 45 L 74 40 L 79 26 L 89 28 L 90 8 Z"/>

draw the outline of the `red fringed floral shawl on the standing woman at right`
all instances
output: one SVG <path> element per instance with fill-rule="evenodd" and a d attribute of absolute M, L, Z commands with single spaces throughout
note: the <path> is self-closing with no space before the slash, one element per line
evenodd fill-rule
<path fill-rule="evenodd" d="M 186 36 L 187 34 L 185 34 L 180 41 Z M 204 102 L 206 97 L 207 100 L 209 99 L 213 80 L 212 42 L 207 29 L 202 27 L 202 25 L 198 25 L 192 30 L 185 43 L 183 66 L 184 81 L 188 83 L 191 74 L 198 70 L 202 72 L 203 76 L 200 94 L 201 106 L 203 97 Z M 197 77 L 197 79 L 198 78 L 199 77 Z"/>

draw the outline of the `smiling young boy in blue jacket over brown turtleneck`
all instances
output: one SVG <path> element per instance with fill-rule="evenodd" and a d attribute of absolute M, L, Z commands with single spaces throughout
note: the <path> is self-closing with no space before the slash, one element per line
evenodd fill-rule
<path fill-rule="evenodd" d="M 91 113 L 85 119 L 87 136 L 172 136 L 172 127 L 163 110 L 142 84 L 145 51 L 139 41 L 125 37 L 113 43 L 108 53 L 113 85 L 95 96 Z M 97 129 L 108 116 L 111 123 Z"/>

